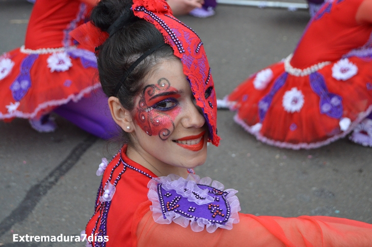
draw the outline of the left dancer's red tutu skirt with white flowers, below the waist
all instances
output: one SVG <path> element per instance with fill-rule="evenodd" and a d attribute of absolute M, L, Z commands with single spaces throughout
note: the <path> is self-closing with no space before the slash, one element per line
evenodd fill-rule
<path fill-rule="evenodd" d="M 93 52 L 79 46 L 14 49 L 0 57 L 0 119 L 40 118 L 100 87 Z"/>

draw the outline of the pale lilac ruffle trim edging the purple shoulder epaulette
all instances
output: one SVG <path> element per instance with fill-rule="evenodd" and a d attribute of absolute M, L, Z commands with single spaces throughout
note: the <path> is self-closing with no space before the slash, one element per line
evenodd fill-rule
<path fill-rule="evenodd" d="M 229 206 L 230 206 L 230 217 L 228 221 L 225 223 L 225 225 L 218 224 L 218 223 L 211 223 L 208 221 L 208 219 L 202 218 L 202 217 L 199 217 L 195 221 L 194 218 L 187 218 L 173 211 L 166 212 L 165 213 L 166 218 L 164 218 L 162 206 L 159 201 L 159 196 L 157 194 L 157 184 L 159 183 L 163 184 L 162 187 L 165 190 L 170 190 L 170 189 L 176 190 L 177 194 L 180 191 L 183 192 L 184 188 L 188 188 L 189 194 L 186 197 L 188 198 L 189 201 L 193 201 L 196 203 L 198 199 L 195 198 L 195 196 L 192 194 L 190 190 L 196 190 L 198 191 L 198 193 L 207 193 L 207 189 L 205 190 L 200 189 L 197 186 L 197 184 L 208 185 L 208 186 L 217 188 L 219 190 L 224 190 L 224 185 L 222 183 L 218 181 L 212 182 L 212 179 L 209 177 L 200 178 L 198 175 L 195 175 L 195 174 L 189 174 L 187 179 L 179 177 L 175 174 L 170 174 L 167 177 L 152 178 L 147 185 L 147 187 L 149 188 L 147 196 L 148 196 L 148 199 L 152 202 L 152 206 L 150 206 L 150 210 L 152 211 L 152 217 L 154 218 L 154 221 L 158 224 L 171 224 L 172 222 L 174 222 L 184 228 L 188 227 L 190 224 L 190 227 L 194 232 L 203 231 L 204 226 L 205 226 L 206 231 L 209 233 L 212 233 L 212 232 L 215 232 L 217 228 L 231 230 L 232 224 L 236 224 L 239 222 L 239 215 L 237 212 L 241 210 L 241 207 L 240 207 L 239 199 L 235 196 L 235 194 L 237 193 L 237 190 L 235 189 L 224 190 L 228 192 L 226 196 L 226 200 L 228 201 Z M 209 185 L 210 183 L 211 185 Z M 179 195 L 185 197 L 182 194 L 179 194 Z M 205 194 L 202 194 L 202 196 L 204 197 Z M 207 196 L 210 197 L 209 195 Z M 211 197 L 211 199 L 213 198 Z"/>

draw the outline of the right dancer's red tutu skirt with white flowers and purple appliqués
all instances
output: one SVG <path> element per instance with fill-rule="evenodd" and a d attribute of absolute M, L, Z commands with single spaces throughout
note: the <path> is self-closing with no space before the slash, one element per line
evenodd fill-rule
<path fill-rule="evenodd" d="M 350 57 L 300 70 L 288 57 L 249 77 L 227 101 L 235 121 L 264 143 L 321 147 L 372 112 L 372 60 Z"/>

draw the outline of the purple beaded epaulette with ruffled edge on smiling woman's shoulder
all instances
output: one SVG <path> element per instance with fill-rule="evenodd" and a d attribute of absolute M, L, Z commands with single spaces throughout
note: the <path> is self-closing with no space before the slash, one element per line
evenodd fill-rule
<path fill-rule="evenodd" d="M 189 224 L 195 232 L 217 228 L 231 229 L 238 223 L 240 204 L 234 189 L 208 178 L 189 174 L 183 179 L 174 174 L 153 178 L 148 183 L 148 198 L 156 223 L 175 222 L 183 227 Z"/>

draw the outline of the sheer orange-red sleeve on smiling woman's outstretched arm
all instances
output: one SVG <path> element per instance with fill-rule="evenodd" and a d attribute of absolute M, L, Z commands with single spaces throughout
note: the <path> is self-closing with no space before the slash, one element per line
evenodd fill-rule
<path fill-rule="evenodd" d="M 140 205 L 132 225 L 133 246 L 372 246 L 372 225 L 344 218 L 300 216 L 283 218 L 239 214 L 232 230 L 193 232 L 175 223 L 157 224 Z"/>

